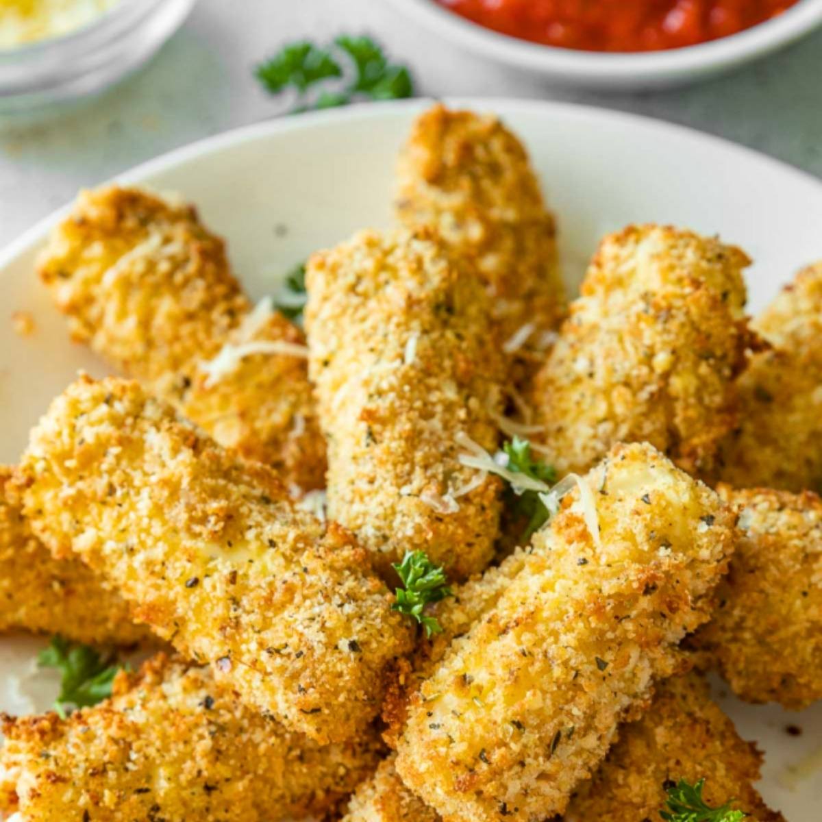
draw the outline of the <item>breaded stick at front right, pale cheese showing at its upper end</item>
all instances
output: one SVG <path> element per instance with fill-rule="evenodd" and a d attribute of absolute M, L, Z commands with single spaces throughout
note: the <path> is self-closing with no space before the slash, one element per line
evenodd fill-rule
<path fill-rule="evenodd" d="M 450 820 L 562 813 L 709 617 L 735 538 L 719 496 L 647 444 L 580 483 L 412 698 L 396 768 Z"/>

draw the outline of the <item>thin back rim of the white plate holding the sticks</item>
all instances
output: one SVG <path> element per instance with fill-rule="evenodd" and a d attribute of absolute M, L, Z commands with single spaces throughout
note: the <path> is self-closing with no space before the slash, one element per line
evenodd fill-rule
<path fill-rule="evenodd" d="M 501 109 L 506 109 L 508 112 L 521 111 L 523 113 L 555 114 L 568 118 L 588 118 L 596 121 L 598 125 L 612 123 L 620 126 L 639 127 L 644 130 L 655 130 L 663 136 L 670 136 L 690 141 L 691 143 L 701 144 L 712 150 L 724 152 L 727 155 L 741 155 L 748 161 L 760 164 L 762 167 L 768 168 L 774 173 L 792 177 L 797 182 L 810 185 L 812 188 L 815 187 L 818 189 L 820 195 L 822 195 L 822 179 L 817 178 L 815 174 L 787 163 L 783 159 L 778 159 L 765 154 L 763 151 L 750 148 L 750 146 L 741 145 L 726 137 L 717 136 L 710 132 L 702 132 L 697 128 L 682 125 L 681 123 L 653 118 L 644 114 L 624 112 L 618 109 L 607 109 L 602 106 L 531 98 L 472 96 L 414 97 L 412 99 L 381 101 L 377 103 L 359 103 L 340 109 L 279 115 L 266 120 L 234 127 L 227 131 L 219 132 L 218 134 L 201 137 L 199 140 L 180 145 L 161 155 L 131 166 L 120 173 L 116 173 L 113 177 L 92 183 L 91 185 L 98 187 L 112 182 L 135 184 L 183 162 L 201 159 L 205 155 L 212 154 L 216 151 L 242 145 L 246 142 L 256 141 L 272 134 L 298 132 L 303 128 L 329 126 L 336 122 L 394 117 L 399 114 L 422 110 L 436 103 L 442 103 L 449 107 L 496 113 L 503 118 L 506 114 L 503 113 Z M 72 200 L 66 205 L 62 205 L 37 220 L 29 229 L 25 229 L 20 236 L 12 240 L 12 242 L 9 242 L 5 247 L 0 248 L 0 278 L 2 278 L 2 275 L 16 258 L 34 250 L 44 241 L 53 226 L 67 215 L 73 202 L 74 198 L 72 197 Z"/>

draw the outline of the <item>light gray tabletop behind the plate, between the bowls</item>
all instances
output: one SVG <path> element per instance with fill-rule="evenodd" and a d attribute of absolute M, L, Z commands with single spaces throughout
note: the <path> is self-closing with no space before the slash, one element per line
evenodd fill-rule
<path fill-rule="evenodd" d="M 0 247 L 94 185 L 178 145 L 270 118 L 252 67 L 284 40 L 376 35 L 424 95 L 571 100 L 681 122 L 822 177 L 822 31 L 733 75 L 684 90 L 557 90 L 418 28 L 385 0 L 200 0 L 154 62 L 53 122 L 0 131 Z"/>

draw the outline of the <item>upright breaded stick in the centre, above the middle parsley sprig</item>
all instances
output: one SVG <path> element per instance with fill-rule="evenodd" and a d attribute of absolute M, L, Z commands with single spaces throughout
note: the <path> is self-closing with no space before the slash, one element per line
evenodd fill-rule
<path fill-rule="evenodd" d="M 425 229 L 361 232 L 312 256 L 307 285 L 330 517 L 383 573 L 409 549 L 452 577 L 483 570 L 499 483 L 459 464 L 459 437 L 496 448 L 502 365 L 473 270 Z"/>

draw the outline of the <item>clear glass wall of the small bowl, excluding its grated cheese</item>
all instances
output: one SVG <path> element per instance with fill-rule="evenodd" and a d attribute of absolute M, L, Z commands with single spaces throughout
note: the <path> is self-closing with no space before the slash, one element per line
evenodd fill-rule
<path fill-rule="evenodd" d="M 178 30 L 196 0 L 120 0 L 71 34 L 0 49 L 0 117 L 7 122 L 108 88 Z"/>

